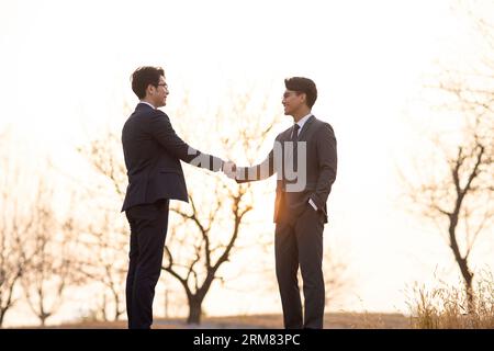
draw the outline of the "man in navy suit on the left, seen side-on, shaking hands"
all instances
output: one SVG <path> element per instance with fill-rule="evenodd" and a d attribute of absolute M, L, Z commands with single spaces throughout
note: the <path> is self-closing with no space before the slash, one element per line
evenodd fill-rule
<path fill-rule="evenodd" d="M 189 201 L 180 160 L 215 172 L 232 163 L 191 148 L 175 133 L 169 117 L 157 110 L 166 105 L 169 93 L 162 68 L 135 70 L 132 90 L 141 102 L 122 131 L 128 176 L 122 211 L 131 226 L 125 293 L 128 328 L 148 329 L 161 272 L 169 201 Z"/>

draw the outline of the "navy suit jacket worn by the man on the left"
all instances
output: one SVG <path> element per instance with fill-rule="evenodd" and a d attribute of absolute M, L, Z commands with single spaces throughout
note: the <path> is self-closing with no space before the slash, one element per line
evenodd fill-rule
<path fill-rule="evenodd" d="M 160 110 L 139 103 L 122 129 L 122 145 L 128 185 L 122 211 L 150 204 L 160 199 L 189 201 L 180 160 L 212 171 L 223 160 L 189 147 L 173 131 L 170 118 Z"/>

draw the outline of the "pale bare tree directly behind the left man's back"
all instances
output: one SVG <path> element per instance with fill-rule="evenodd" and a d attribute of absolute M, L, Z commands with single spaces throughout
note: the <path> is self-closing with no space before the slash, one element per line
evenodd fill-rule
<path fill-rule="evenodd" d="M 101 196 L 106 202 L 96 203 L 100 216 L 86 224 L 83 229 L 85 254 L 80 257 L 80 271 L 92 282 L 103 286 L 97 303 L 98 316 L 104 320 L 117 320 L 125 313 L 125 276 L 127 269 L 128 233 L 115 207 L 125 195 L 125 166 L 121 151 L 121 140 L 116 134 L 108 132 L 92 140 L 88 147 L 79 148 L 98 174 L 102 176 L 93 189 L 86 190 L 86 200 Z"/>

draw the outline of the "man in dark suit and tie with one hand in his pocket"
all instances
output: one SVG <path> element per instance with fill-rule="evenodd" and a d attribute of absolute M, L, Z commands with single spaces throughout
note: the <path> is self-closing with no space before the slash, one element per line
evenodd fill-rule
<path fill-rule="evenodd" d="M 318 329 L 323 328 L 325 306 L 323 230 L 327 223 L 326 201 L 336 179 L 336 138 L 333 127 L 311 113 L 317 99 L 315 83 L 302 77 L 285 79 L 284 83 L 284 114 L 293 116 L 294 125 L 278 135 L 262 163 L 237 167 L 229 177 L 235 174 L 242 183 L 278 174 L 274 254 L 284 327 Z"/>

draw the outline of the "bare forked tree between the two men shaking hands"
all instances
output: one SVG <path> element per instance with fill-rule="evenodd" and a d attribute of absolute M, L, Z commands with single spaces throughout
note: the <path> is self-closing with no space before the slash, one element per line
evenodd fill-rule
<path fill-rule="evenodd" d="M 274 127 L 279 118 L 274 114 L 267 117 L 270 115 L 266 111 L 267 100 L 262 104 L 265 111 L 258 112 L 263 118 L 258 115 L 249 118 L 251 97 L 248 93 L 234 97 L 231 101 L 232 105 L 226 113 L 218 110 L 212 118 L 215 131 L 221 131 L 217 126 L 228 125 L 227 135 L 221 136 L 216 132 L 215 135 L 220 134 L 220 137 L 215 149 L 228 159 L 238 161 L 242 155 L 245 161 L 254 163 L 256 158 L 265 156 L 260 154 L 262 147 L 274 139 Z M 232 116 L 242 118 L 233 120 Z M 188 129 L 183 134 L 189 139 L 195 139 L 191 135 L 203 134 L 203 127 L 201 129 Z M 206 140 L 205 145 L 207 144 L 212 144 L 211 140 Z M 178 205 L 171 208 L 181 217 L 182 223 L 171 227 L 162 269 L 176 278 L 186 292 L 189 302 L 187 321 L 199 324 L 206 294 L 215 281 L 223 281 L 221 268 L 231 260 L 242 231 L 249 228 L 247 215 L 255 206 L 252 199 L 256 197 L 256 192 L 251 183 L 238 186 L 225 177 L 207 177 L 203 173 L 195 178 L 189 177 L 188 182 L 191 184 L 190 206 Z M 207 192 L 203 189 L 207 189 Z M 186 227 L 187 230 L 183 230 Z"/>

